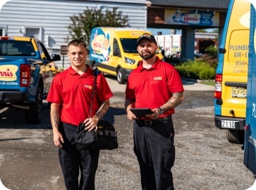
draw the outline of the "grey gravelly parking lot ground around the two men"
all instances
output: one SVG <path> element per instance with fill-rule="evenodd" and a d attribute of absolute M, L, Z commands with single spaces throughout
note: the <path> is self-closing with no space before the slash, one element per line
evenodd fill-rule
<path fill-rule="evenodd" d="M 139 190 L 140 173 L 133 153 L 133 123 L 123 109 L 125 84 L 107 78 L 114 92 L 105 119 L 114 123 L 119 147 L 101 151 L 96 189 Z M 176 190 L 248 189 L 254 175 L 243 165 L 243 145 L 230 144 L 214 126 L 214 87 L 184 81 L 185 100 L 176 108 Z M 23 112 L 0 110 L 0 179 L 8 189 L 62 190 L 63 177 L 52 142 L 49 108 L 40 125 L 27 125 Z"/>

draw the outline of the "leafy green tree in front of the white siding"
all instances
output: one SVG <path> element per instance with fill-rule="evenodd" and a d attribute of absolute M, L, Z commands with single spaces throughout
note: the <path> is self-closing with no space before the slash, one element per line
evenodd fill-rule
<path fill-rule="evenodd" d="M 90 41 L 90 34 L 93 27 L 126 27 L 128 15 L 122 15 L 122 11 L 117 11 L 114 7 L 112 10 L 102 8 L 88 8 L 78 15 L 71 16 L 72 24 L 68 26 L 68 32 L 71 39 L 82 39 L 87 44 Z M 69 41 L 70 37 L 67 38 Z"/>

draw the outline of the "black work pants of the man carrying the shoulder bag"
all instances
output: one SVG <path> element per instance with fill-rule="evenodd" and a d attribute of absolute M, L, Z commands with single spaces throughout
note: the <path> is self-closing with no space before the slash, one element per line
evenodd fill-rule
<path fill-rule="evenodd" d="M 63 135 L 63 148 L 59 148 L 59 162 L 67 190 L 94 190 L 95 174 L 98 167 L 99 151 L 75 147 L 75 131 L 77 127 L 63 123 L 59 131 Z M 80 182 L 78 182 L 80 170 Z"/>

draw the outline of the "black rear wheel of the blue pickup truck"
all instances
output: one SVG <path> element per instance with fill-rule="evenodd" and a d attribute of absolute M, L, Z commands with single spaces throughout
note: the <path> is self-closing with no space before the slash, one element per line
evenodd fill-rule
<path fill-rule="evenodd" d="M 37 89 L 35 102 L 30 105 L 29 110 L 25 110 L 25 119 L 28 124 L 39 124 L 42 116 L 42 90 Z"/>

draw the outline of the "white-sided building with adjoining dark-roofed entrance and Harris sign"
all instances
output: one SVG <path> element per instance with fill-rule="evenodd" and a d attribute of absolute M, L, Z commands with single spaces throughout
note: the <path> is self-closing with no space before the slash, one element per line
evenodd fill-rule
<path fill-rule="evenodd" d="M 8 1 L 8 0 L 5 0 Z M 0 35 L 33 36 L 40 39 L 50 53 L 60 53 L 68 42 L 70 17 L 87 8 L 103 11 L 117 7 L 128 15 L 128 27 L 181 30 L 181 56 L 194 57 L 195 30 L 219 28 L 219 39 L 229 0 L 11 0 L 0 11 Z M 173 17 L 174 15 L 174 17 Z M 181 18 L 179 16 L 181 15 Z M 199 21 L 198 18 L 204 18 Z M 62 63 L 61 63 L 62 62 Z M 58 65 L 68 67 L 68 58 Z"/>

